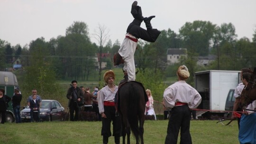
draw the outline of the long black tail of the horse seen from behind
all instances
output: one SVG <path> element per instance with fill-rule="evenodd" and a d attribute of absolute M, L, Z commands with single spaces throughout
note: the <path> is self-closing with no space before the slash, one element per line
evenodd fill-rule
<path fill-rule="evenodd" d="M 138 115 L 141 113 L 140 105 L 140 94 L 139 90 L 136 88 L 135 83 L 132 83 L 129 87 L 129 109 L 128 109 L 128 122 L 130 124 L 131 131 L 135 137 L 140 139 L 143 138 L 143 134 L 139 130 L 138 126 Z"/>

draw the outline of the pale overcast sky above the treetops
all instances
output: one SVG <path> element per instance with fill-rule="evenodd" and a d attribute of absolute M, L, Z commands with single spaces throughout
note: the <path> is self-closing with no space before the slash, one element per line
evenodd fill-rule
<path fill-rule="evenodd" d="M 65 36 L 67 27 L 82 21 L 89 28 L 91 42 L 99 26 L 109 31 L 112 44 L 121 43 L 133 20 L 134 0 L 0 0 L 0 39 L 12 46 Z M 155 15 L 153 28 L 179 34 L 186 22 L 210 21 L 220 26 L 232 23 L 238 39 L 250 40 L 256 30 L 256 0 L 137 0 L 144 17 Z M 146 28 L 144 22 L 141 27 Z"/>

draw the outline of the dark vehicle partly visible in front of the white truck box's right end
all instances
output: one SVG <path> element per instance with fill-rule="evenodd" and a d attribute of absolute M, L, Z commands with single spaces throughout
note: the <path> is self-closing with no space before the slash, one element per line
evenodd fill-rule
<path fill-rule="evenodd" d="M 235 93 L 235 89 L 229 90 L 228 97 L 226 100 L 226 105 L 225 105 L 225 111 L 233 111 L 234 102 L 235 102 L 234 93 Z M 232 112 L 225 112 L 224 117 L 230 118 L 231 115 L 232 115 Z"/>

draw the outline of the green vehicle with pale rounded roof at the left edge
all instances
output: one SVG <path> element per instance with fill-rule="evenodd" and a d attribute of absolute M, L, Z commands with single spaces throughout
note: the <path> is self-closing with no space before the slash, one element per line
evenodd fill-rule
<path fill-rule="evenodd" d="M 14 89 L 18 87 L 18 81 L 15 74 L 12 72 L 0 72 L 0 89 L 5 90 L 5 95 L 10 98 L 13 97 Z M 11 101 L 8 103 L 9 107 L 6 110 L 5 121 L 6 122 L 14 122 L 14 112 L 11 106 Z M 1 115 L 1 114 L 0 114 Z M 0 122 L 2 118 L 0 117 Z"/>

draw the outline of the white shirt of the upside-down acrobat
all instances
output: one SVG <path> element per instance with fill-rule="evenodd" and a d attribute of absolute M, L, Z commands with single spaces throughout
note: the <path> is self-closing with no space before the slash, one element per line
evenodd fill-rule
<path fill-rule="evenodd" d="M 128 73 L 128 81 L 135 81 L 135 62 L 134 62 L 134 53 L 136 51 L 137 42 L 130 40 L 125 37 L 121 47 L 119 48 L 118 53 L 122 56 L 124 60 L 123 70 Z"/>

